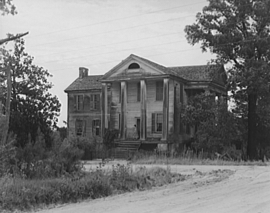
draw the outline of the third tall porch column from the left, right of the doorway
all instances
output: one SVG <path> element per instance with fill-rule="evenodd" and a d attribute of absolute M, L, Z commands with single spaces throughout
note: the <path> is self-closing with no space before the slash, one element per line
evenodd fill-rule
<path fill-rule="evenodd" d="M 146 139 L 146 81 L 141 80 L 141 140 Z"/>

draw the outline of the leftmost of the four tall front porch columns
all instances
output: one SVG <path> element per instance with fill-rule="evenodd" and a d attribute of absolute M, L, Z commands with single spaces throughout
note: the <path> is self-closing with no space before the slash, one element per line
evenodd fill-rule
<path fill-rule="evenodd" d="M 101 136 L 104 135 L 105 128 L 108 128 L 108 84 L 102 83 L 101 88 Z"/>

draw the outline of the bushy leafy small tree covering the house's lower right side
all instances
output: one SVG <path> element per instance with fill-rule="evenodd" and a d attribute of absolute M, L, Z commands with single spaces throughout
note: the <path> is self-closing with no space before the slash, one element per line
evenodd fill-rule
<path fill-rule="evenodd" d="M 223 153 L 238 139 L 235 116 L 228 111 L 226 100 L 215 101 L 212 93 L 189 98 L 183 109 L 183 120 L 196 126 L 195 149 Z"/>

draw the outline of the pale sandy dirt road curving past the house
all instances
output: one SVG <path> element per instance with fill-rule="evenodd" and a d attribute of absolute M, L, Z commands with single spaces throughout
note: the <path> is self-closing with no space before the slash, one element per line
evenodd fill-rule
<path fill-rule="evenodd" d="M 85 167 L 87 170 L 95 169 L 98 163 L 91 162 Z M 115 163 L 107 163 L 104 169 Z M 119 163 L 126 164 L 126 161 Z M 133 168 L 138 166 L 141 165 L 133 165 Z M 160 166 L 167 168 L 167 165 Z M 170 168 L 172 172 L 197 175 L 148 191 L 66 204 L 40 213 L 270 212 L 270 166 L 170 165 Z M 222 181 L 213 181 L 214 175 L 209 172 L 218 169 L 225 170 L 225 175 L 231 175 Z M 206 172 L 206 175 L 199 175 L 200 172 L 196 171 Z"/>

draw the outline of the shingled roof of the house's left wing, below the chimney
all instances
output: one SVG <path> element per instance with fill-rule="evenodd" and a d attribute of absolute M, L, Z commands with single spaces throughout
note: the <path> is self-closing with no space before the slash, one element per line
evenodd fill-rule
<path fill-rule="evenodd" d="M 88 75 L 83 78 L 77 78 L 72 84 L 70 84 L 65 92 L 76 91 L 76 90 L 90 90 L 90 89 L 101 89 L 101 82 L 99 79 L 103 75 Z"/>

